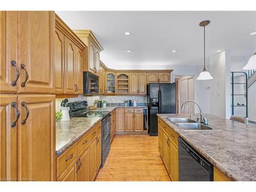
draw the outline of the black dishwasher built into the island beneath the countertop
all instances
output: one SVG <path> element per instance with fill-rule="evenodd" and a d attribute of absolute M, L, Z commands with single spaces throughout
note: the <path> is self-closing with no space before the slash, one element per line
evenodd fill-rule
<path fill-rule="evenodd" d="M 179 181 L 213 181 L 214 166 L 182 138 L 179 141 Z"/>

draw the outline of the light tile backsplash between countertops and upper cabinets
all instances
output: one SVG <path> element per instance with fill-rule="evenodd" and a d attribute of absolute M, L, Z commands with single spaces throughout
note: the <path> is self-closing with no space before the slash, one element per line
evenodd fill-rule
<path fill-rule="evenodd" d="M 59 111 L 60 103 L 65 98 L 56 99 L 56 111 Z M 137 103 L 146 103 L 146 96 L 93 96 L 93 97 L 86 97 L 83 95 L 78 95 L 78 97 L 75 98 L 68 98 L 69 102 L 72 101 L 87 101 L 88 105 L 93 105 L 94 100 L 105 100 L 108 103 L 123 103 L 125 100 L 136 100 Z"/>

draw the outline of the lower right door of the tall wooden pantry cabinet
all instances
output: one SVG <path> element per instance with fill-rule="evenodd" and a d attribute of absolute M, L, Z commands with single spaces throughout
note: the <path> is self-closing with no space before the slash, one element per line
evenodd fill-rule
<path fill-rule="evenodd" d="M 18 177 L 55 177 L 55 96 L 18 95 Z"/>

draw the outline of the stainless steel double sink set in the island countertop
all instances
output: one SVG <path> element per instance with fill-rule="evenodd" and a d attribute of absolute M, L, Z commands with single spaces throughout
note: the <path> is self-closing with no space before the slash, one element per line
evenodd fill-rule
<path fill-rule="evenodd" d="M 168 120 L 176 124 L 181 130 L 192 131 L 192 130 L 212 130 L 211 127 L 204 125 L 202 123 L 197 123 L 197 121 L 188 118 L 168 118 Z"/>

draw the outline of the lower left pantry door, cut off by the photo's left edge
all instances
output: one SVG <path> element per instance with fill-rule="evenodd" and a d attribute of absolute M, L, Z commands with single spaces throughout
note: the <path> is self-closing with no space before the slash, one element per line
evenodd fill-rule
<path fill-rule="evenodd" d="M 17 124 L 13 124 L 17 118 L 16 106 L 16 95 L 0 95 L 0 177 L 2 179 L 17 178 Z"/>

